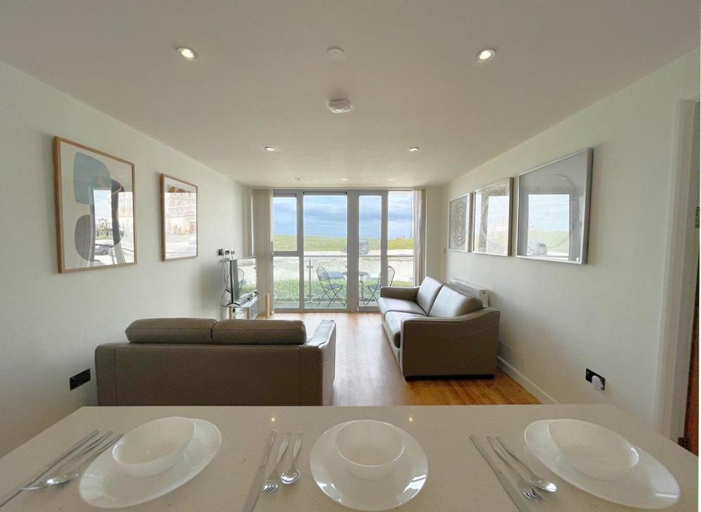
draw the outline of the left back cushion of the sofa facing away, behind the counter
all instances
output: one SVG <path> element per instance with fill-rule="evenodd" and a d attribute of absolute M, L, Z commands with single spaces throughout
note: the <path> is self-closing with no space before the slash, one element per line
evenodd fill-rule
<path fill-rule="evenodd" d="M 212 318 L 142 318 L 124 331 L 131 343 L 212 343 Z"/>

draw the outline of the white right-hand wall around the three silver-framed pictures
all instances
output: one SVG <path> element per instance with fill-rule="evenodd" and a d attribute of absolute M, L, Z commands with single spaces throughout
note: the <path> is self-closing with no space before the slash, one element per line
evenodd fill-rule
<path fill-rule="evenodd" d="M 613 403 L 652 424 L 674 116 L 677 100 L 698 95 L 698 76 L 696 51 L 444 189 L 441 223 L 431 227 L 442 234 L 442 248 L 449 198 L 594 148 L 588 264 L 440 255 L 444 278 L 491 290 L 491 304 L 502 314 L 500 356 L 537 386 L 531 390 L 541 399 Z M 606 377 L 606 391 L 585 382 L 585 368 Z"/>

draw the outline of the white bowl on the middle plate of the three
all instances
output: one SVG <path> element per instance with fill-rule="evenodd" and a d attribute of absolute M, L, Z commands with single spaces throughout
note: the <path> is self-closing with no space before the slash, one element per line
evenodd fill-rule
<path fill-rule="evenodd" d="M 394 425 L 360 419 L 339 429 L 336 450 L 353 475 L 363 480 L 379 480 L 394 469 L 404 453 L 404 436 Z"/>

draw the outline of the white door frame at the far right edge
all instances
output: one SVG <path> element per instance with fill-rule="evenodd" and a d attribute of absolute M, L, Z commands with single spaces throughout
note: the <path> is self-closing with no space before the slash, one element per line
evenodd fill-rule
<path fill-rule="evenodd" d="M 695 279 L 699 254 L 698 229 L 689 236 L 697 204 L 693 204 L 692 153 L 694 118 L 699 97 L 678 100 L 676 105 L 675 151 L 672 162 L 669 215 L 667 225 L 665 278 L 663 283 L 658 356 L 655 427 L 676 441 L 683 437 L 690 363 L 690 339 L 693 330 Z M 693 227 L 693 225 L 692 225 Z M 695 241 L 694 241 L 695 240 Z"/>

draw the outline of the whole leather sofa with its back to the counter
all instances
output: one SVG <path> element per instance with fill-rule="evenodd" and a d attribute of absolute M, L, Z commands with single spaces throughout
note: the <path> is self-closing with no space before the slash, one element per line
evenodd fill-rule
<path fill-rule="evenodd" d="M 329 405 L 336 325 L 150 318 L 95 349 L 99 405 Z"/>

